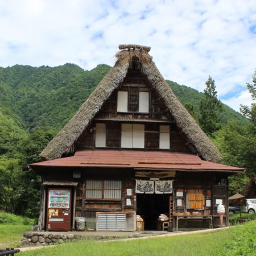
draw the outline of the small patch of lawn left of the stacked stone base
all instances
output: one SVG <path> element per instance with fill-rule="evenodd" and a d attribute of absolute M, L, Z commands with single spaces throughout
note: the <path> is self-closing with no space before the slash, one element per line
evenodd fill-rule
<path fill-rule="evenodd" d="M 0 224 L 0 248 L 20 246 L 23 234 L 30 230 L 30 225 Z"/>

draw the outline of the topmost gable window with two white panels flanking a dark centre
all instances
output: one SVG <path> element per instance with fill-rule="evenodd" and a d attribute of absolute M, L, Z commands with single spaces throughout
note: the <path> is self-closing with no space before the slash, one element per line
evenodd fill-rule
<path fill-rule="evenodd" d="M 138 87 L 130 86 L 128 91 L 117 93 L 117 112 L 149 112 L 149 94 L 141 92 Z"/>

